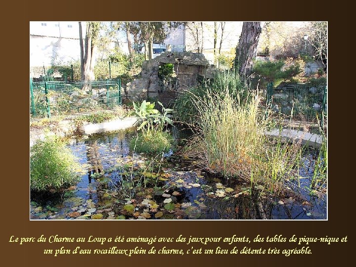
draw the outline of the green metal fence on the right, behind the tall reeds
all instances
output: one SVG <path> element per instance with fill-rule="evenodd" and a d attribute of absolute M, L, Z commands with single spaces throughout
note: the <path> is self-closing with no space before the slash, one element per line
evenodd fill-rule
<path fill-rule="evenodd" d="M 287 85 L 273 89 L 273 84 L 267 86 L 267 108 L 280 112 L 294 119 L 321 124 L 326 118 L 327 106 L 326 86 L 308 86 L 304 84 Z"/>

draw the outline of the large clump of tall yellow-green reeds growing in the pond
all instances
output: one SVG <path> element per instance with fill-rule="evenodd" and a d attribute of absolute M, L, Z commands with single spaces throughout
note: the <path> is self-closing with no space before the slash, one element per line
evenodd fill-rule
<path fill-rule="evenodd" d="M 266 136 L 271 118 L 259 109 L 257 92 L 231 93 L 226 79 L 221 81 L 224 89 L 207 87 L 205 95 L 191 97 L 191 105 L 198 110 L 198 132 L 186 153 L 225 177 L 251 179 L 272 188 L 269 185 L 294 172 L 300 158 L 298 144 L 272 142 Z"/>

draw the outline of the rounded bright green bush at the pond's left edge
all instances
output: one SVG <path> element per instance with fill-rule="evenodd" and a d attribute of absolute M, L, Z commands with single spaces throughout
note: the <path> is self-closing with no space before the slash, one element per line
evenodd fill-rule
<path fill-rule="evenodd" d="M 31 189 L 59 189 L 79 181 L 80 164 L 59 138 L 46 137 L 31 148 Z"/>

